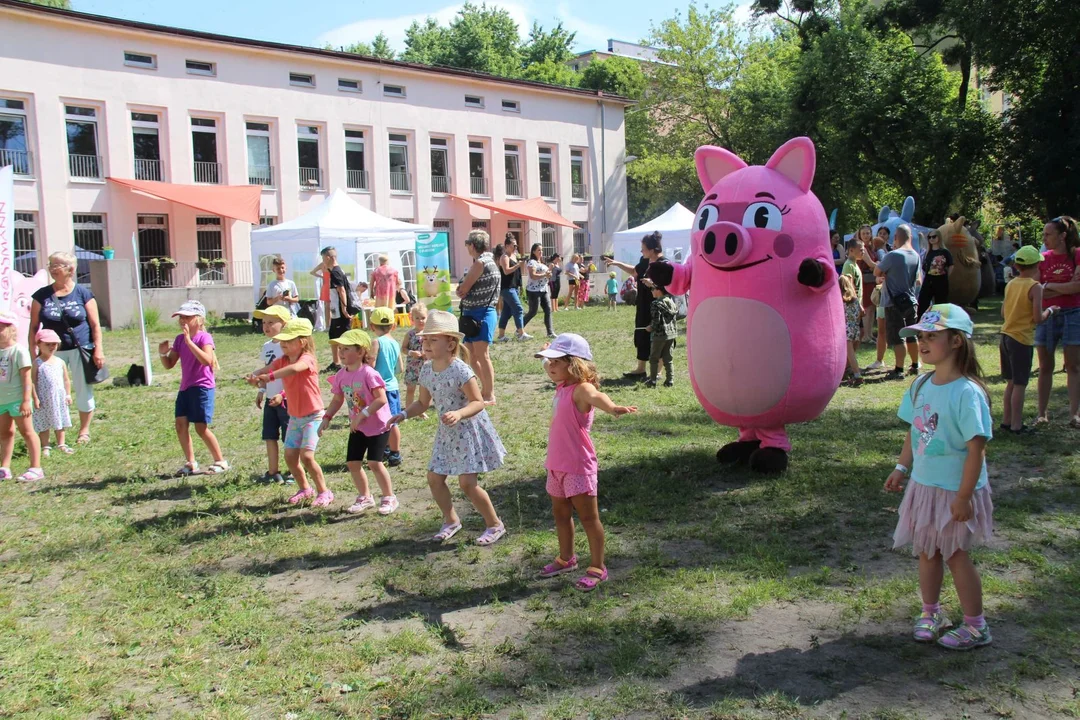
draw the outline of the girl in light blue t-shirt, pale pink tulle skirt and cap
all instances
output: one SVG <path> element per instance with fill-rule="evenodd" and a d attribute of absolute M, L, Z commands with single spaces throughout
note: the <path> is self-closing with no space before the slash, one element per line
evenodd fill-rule
<path fill-rule="evenodd" d="M 885 484 L 886 490 L 900 492 L 910 474 L 893 547 L 910 543 L 919 557 L 922 613 L 915 622 L 915 640 L 936 640 L 949 650 L 971 650 L 991 640 L 983 617 L 983 584 L 968 555 L 972 544 L 989 540 L 994 519 L 986 478 L 990 403 L 972 329 L 968 313 L 945 303 L 932 305 L 901 331 L 903 338 L 918 336 L 922 362 L 934 371 L 917 378 L 904 393 L 897 415 L 912 430 Z M 956 626 L 939 602 L 944 565 L 963 610 L 963 623 Z"/>

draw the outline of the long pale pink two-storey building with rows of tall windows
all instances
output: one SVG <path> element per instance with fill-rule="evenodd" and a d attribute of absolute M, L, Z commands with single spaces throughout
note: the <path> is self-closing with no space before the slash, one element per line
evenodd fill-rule
<path fill-rule="evenodd" d="M 449 232 L 455 276 L 476 227 L 564 255 L 598 255 L 626 227 L 623 98 L 14 0 L 0 0 L 0 164 L 15 167 L 24 272 L 55 250 L 94 259 L 106 245 L 132 263 L 136 232 L 143 280 L 162 288 L 151 304 L 234 288 L 240 308 L 229 293 L 206 297 L 246 309 L 261 282 L 249 222 L 107 178 L 260 186 L 267 225 L 342 188 Z M 578 229 L 451 194 L 543 198 Z M 166 257 L 172 270 L 147 264 Z"/>

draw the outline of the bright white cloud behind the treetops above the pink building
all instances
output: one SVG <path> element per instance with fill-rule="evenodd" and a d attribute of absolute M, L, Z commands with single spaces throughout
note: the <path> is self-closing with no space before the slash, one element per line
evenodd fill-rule
<path fill-rule="evenodd" d="M 457 15 L 458 11 L 461 10 L 463 3 L 455 3 L 453 5 L 446 5 L 431 13 L 414 13 L 409 15 L 396 15 L 393 17 L 374 17 L 370 19 L 356 21 L 354 23 L 348 23 L 339 27 L 333 28 L 323 32 L 318 38 L 315 38 L 316 45 L 324 45 L 329 43 L 330 45 L 337 47 L 340 45 L 350 45 L 354 42 L 370 42 L 375 39 L 379 32 L 382 32 L 389 38 L 390 45 L 397 52 L 405 49 L 405 30 L 414 22 L 423 24 L 428 17 L 434 17 L 440 25 L 448 25 L 454 16 Z M 568 2 L 559 2 L 555 9 L 555 12 L 548 15 L 545 13 L 537 13 L 531 10 L 529 4 L 525 2 L 515 2 L 511 0 L 510 2 L 488 2 L 488 5 L 495 5 L 505 10 L 510 13 L 510 16 L 514 18 L 517 23 L 518 32 L 522 39 L 528 37 L 529 28 L 532 27 L 532 22 L 537 21 L 545 28 L 551 28 L 556 22 L 562 21 L 563 26 L 577 33 L 576 46 L 580 51 L 584 50 L 604 50 L 607 47 L 608 38 L 616 37 L 611 33 L 608 28 L 597 25 L 595 23 L 590 23 L 584 21 L 570 11 L 570 5 Z M 541 6 L 543 6 L 541 4 Z M 643 28 L 644 33 L 647 28 Z M 619 38 L 621 40 L 626 40 L 629 42 L 637 42 L 638 38 Z"/>

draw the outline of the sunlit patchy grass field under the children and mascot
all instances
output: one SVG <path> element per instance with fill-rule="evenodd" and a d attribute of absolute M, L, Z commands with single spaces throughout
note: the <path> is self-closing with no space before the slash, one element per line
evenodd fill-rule
<path fill-rule="evenodd" d="M 980 314 L 977 340 L 1000 419 L 997 312 Z M 630 369 L 631 310 L 555 317 L 591 340 L 602 373 Z M 157 329 L 151 348 L 174 335 Z M 536 579 L 556 552 L 538 344 L 492 348 L 510 454 L 483 484 L 510 532 L 480 548 L 454 486 L 464 531 L 427 542 L 433 419 L 404 426 L 390 517 L 343 513 L 340 420 L 318 456 L 334 507 L 255 485 L 266 453 L 239 378 L 262 339 L 237 325 L 215 337 L 230 473 L 170 477 L 179 370 L 159 366 L 152 388 L 100 389 L 93 444 L 49 459 L 46 481 L 0 485 L 0 717 L 1080 717 L 1080 433 L 1062 375 L 1050 430 L 989 444 L 998 532 L 975 558 L 995 644 L 955 655 L 908 639 L 916 561 L 891 549 L 899 498 L 881 486 L 906 382 L 841 389 L 792 429 L 777 478 L 717 467 L 734 431 L 700 409 L 681 343 L 675 389 L 606 383 L 639 415 L 593 430 L 611 580 L 582 595 L 576 576 Z M 137 334 L 105 342 L 122 375 Z"/>

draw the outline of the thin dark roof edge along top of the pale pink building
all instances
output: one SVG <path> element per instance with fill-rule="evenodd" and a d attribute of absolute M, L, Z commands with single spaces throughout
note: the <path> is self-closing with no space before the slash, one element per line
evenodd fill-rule
<path fill-rule="evenodd" d="M 203 32 L 201 30 L 188 30 L 186 28 L 171 27 L 167 25 L 140 23 L 138 21 L 129 21 L 120 17 L 108 17 L 107 15 L 94 15 L 91 13 L 81 13 L 75 10 L 63 10 L 59 8 L 37 5 L 37 4 L 31 4 L 29 2 L 25 2 L 24 0 L 0 0 L 0 10 L 14 10 L 16 12 L 28 13 L 33 15 L 53 16 L 69 22 L 92 23 L 96 25 L 106 25 L 110 27 L 123 28 L 129 30 L 138 30 L 143 32 L 153 32 L 157 35 L 173 36 L 177 38 L 204 40 L 207 42 L 216 42 L 227 45 L 235 45 L 240 47 L 258 47 L 260 50 L 270 50 L 282 53 L 312 55 L 315 57 L 324 57 L 327 59 L 345 60 L 347 63 L 354 63 L 357 65 L 381 66 L 386 68 L 406 70 L 411 72 L 450 76 L 455 78 L 461 78 L 463 80 L 476 80 L 476 81 L 491 82 L 502 85 L 514 85 L 540 92 L 558 93 L 562 95 L 571 95 L 582 98 L 605 99 L 622 105 L 634 104 L 634 100 L 630 98 L 622 97 L 620 95 L 608 94 L 598 90 L 566 87 L 564 85 L 552 85 L 544 82 L 535 82 L 532 80 L 519 80 L 517 78 L 504 78 L 501 76 L 490 74 L 488 72 L 463 70 L 461 68 L 453 68 L 442 65 L 422 65 L 420 63 L 405 63 L 403 60 L 387 60 L 379 57 L 369 57 L 367 55 L 357 55 L 356 53 L 339 52 L 336 50 L 322 50 L 319 47 L 308 47 L 305 45 L 292 45 L 283 42 L 254 40 L 251 38 L 238 38 L 233 36 L 218 35 L 215 32 Z"/>

